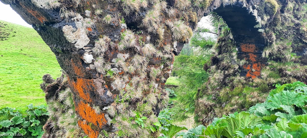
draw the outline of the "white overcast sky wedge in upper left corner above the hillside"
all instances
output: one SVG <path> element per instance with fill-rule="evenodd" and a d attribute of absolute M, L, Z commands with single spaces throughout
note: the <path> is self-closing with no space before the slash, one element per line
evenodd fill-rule
<path fill-rule="evenodd" d="M 0 20 L 7 21 L 11 23 L 15 23 L 18 25 L 23 25 L 26 27 L 31 27 L 28 23 L 26 23 L 20 15 L 18 15 L 11 7 L 10 5 L 5 5 L 2 2 L 0 2 Z"/>

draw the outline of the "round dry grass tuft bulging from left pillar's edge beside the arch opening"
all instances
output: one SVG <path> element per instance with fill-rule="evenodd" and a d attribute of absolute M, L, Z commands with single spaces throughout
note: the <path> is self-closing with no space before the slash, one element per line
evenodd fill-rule
<path fill-rule="evenodd" d="M 193 35 L 192 29 L 185 25 L 183 21 L 174 22 L 171 32 L 173 38 L 179 41 L 187 41 Z"/>

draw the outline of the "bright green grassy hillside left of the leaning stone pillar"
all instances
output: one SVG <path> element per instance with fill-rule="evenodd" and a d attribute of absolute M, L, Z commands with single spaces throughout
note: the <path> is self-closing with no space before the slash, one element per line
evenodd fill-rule
<path fill-rule="evenodd" d="M 0 109 L 46 104 L 40 83 L 44 74 L 61 74 L 55 55 L 33 28 L 0 25 Z"/>

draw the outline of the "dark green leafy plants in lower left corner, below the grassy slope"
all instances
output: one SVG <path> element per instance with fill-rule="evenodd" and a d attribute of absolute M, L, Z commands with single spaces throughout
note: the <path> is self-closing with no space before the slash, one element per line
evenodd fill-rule
<path fill-rule="evenodd" d="M 0 110 L 0 134 L 9 134 L 3 138 L 23 135 L 26 138 L 40 138 L 44 131 L 43 125 L 48 119 L 48 112 L 45 105 L 28 105 L 25 114 L 18 109 L 9 107 Z"/>

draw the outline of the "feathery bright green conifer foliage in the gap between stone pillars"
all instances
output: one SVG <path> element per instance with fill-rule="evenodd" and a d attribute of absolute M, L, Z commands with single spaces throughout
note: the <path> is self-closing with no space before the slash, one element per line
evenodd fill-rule
<path fill-rule="evenodd" d="M 188 48 L 185 48 L 187 50 Z M 175 57 L 173 75 L 181 82 L 175 89 L 177 103 L 172 108 L 173 119 L 182 121 L 194 113 L 197 88 L 208 79 L 204 71 L 204 64 L 210 60 L 210 54 L 206 51 L 184 51 Z"/>

